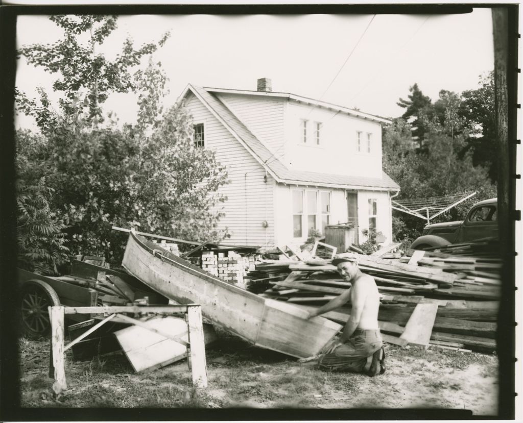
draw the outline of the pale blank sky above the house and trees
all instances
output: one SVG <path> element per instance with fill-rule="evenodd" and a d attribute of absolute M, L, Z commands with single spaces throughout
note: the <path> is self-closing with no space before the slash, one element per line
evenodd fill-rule
<path fill-rule="evenodd" d="M 267 77 L 273 91 L 396 117 L 404 111 L 396 102 L 414 83 L 435 101 L 441 89 L 477 88 L 479 76 L 494 68 L 488 8 L 430 16 L 122 16 L 104 51 L 116 54 L 128 36 L 136 46 L 154 42 L 168 30 L 172 36 L 155 54 L 169 78 L 166 105 L 188 83 L 255 90 L 256 80 Z M 62 34 L 47 17 L 19 17 L 19 46 L 51 43 Z M 17 87 L 30 95 L 38 85 L 50 90 L 54 77 L 23 58 L 18 63 Z M 106 104 L 121 121 L 133 121 L 137 109 L 128 96 Z M 17 127 L 30 125 L 17 117 Z"/>

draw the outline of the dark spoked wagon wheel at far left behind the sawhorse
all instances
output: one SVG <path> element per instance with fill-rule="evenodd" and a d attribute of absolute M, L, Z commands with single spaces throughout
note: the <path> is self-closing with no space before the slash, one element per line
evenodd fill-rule
<path fill-rule="evenodd" d="M 51 329 L 49 306 L 60 306 L 53 288 L 41 280 L 30 280 L 22 286 L 22 330 L 30 339 L 47 336 Z"/>

